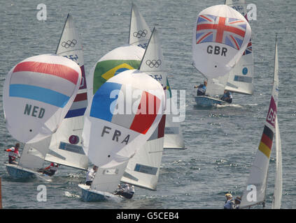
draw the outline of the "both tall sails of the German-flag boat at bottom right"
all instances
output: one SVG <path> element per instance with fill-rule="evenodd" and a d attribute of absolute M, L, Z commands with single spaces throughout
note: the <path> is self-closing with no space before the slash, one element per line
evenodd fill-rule
<path fill-rule="evenodd" d="M 262 133 L 262 138 L 255 160 L 251 167 L 248 177 L 247 187 L 241 197 L 239 208 L 251 208 L 251 206 L 260 203 L 265 206 L 265 197 L 267 189 L 267 173 L 269 169 L 269 159 L 272 153 L 272 143 L 276 139 L 276 183 L 274 187 L 274 196 L 272 208 L 281 208 L 282 192 L 282 171 L 281 171 L 281 139 L 279 135 L 279 121 L 277 118 L 277 105 L 279 100 L 279 64 L 277 40 L 274 53 L 274 85 L 272 89 L 272 98 L 269 103 L 267 119 Z"/>

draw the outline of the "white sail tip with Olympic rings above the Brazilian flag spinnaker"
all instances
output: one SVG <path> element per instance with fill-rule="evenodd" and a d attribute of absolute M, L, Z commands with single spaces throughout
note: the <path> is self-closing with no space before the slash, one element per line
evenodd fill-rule
<path fill-rule="evenodd" d="M 129 45 L 137 45 L 146 49 L 151 36 L 151 31 L 139 12 L 138 8 L 132 3 L 131 20 L 129 24 Z"/>

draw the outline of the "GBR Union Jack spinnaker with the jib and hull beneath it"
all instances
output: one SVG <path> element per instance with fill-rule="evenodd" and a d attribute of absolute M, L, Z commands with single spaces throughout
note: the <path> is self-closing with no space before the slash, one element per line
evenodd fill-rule
<path fill-rule="evenodd" d="M 225 105 L 218 95 L 225 91 L 229 72 L 241 59 L 251 38 L 251 27 L 237 10 L 211 6 L 197 16 L 192 38 L 193 66 L 208 79 L 206 95 L 195 97 L 197 105 Z"/>

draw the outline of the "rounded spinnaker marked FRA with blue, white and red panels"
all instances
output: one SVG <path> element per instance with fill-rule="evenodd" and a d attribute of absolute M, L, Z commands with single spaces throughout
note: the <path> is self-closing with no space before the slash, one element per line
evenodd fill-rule
<path fill-rule="evenodd" d="M 108 79 L 85 113 L 83 149 L 90 161 L 108 168 L 129 160 L 157 128 L 164 98 L 162 86 L 139 70 Z"/>

